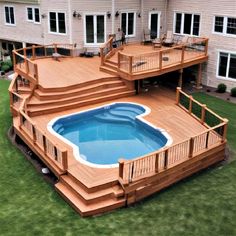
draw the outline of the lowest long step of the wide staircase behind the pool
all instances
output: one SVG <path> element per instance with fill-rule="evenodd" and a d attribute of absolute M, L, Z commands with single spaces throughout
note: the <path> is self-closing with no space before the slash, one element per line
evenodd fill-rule
<path fill-rule="evenodd" d="M 76 107 L 82 107 L 86 105 L 96 104 L 99 102 L 105 102 L 112 99 L 122 98 L 122 97 L 128 97 L 135 94 L 135 90 L 128 90 L 124 92 L 118 92 L 118 93 L 111 93 L 105 96 L 96 96 L 90 99 L 85 99 L 81 101 L 76 102 L 68 102 L 67 104 L 57 104 L 57 105 L 46 105 L 41 107 L 29 107 L 28 114 L 29 116 L 37 116 L 37 115 L 43 115 L 53 112 L 59 112 L 66 109 L 73 109 Z"/>

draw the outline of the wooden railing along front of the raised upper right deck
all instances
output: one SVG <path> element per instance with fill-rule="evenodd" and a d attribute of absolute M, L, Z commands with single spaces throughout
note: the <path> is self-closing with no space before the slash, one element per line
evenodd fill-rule
<path fill-rule="evenodd" d="M 118 53 L 118 71 L 129 75 L 178 66 L 207 56 L 208 39 L 191 38 L 182 45 L 139 55 Z"/>

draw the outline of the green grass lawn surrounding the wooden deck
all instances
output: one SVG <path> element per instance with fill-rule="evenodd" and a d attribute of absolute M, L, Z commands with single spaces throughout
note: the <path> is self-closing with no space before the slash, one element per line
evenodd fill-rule
<path fill-rule="evenodd" d="M 0 235 L 236 235 L 236 161 L 201 172 L 135 206 L 81 218 L 7 139 L 7 88 L 0 81 Z M 236 105 L 198 93 L 229 118 L 236 151 Z"/>

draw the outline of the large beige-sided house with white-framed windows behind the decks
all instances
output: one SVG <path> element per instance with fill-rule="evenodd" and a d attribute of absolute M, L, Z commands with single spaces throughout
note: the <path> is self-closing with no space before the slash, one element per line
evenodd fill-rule
<path fill-rule="evenodd" d="M 204 85 L 236 86 L 236 4 L 232 0 L 129 1 L 0 0 L 0 53 L 27 45 L 53 42 L 76 44 L 98 51 L 110 34 L 125 32 L 127 42 L 143 40 L 143 30 L 154 37 L 172 30 L 182 35 L 209 38 L 209 61 Z M 1 56 L 1 54 L 0 54 Z M 194 70 L 194 68 L 193 68 Z"/>

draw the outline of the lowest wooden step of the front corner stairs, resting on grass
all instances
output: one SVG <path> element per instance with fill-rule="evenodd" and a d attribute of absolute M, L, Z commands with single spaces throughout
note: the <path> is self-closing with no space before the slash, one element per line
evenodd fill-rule
<path fill-rule="evenodd" d="M 106 199 L 86 205 L 70 188 L 62 182 L 55 185 L 57 192 L 77 211 L 81 216 L 97 215 L 126 205 L 126 200 Z"/>

